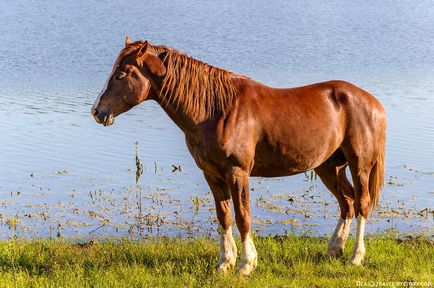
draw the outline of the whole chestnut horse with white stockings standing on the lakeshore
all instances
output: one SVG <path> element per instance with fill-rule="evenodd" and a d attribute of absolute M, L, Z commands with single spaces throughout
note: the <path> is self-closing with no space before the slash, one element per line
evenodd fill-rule
<path fill-rule="evenodd" d="M 384 178 L 386 116 L 368 92 L 343 81 L 276 89 L 193 59 L 174 48 L 127 37 L 92 107 L 104 126 L 145 100 L 155 100 L 185 133 L 188 149 L 214 196 L 220 223 L 219 271 L 234 267 L 231 199 L 241 235 L 239 272 L 250 274 L 257 253 L 250 235 L 249 177 L 314 170 L 336 196 L 340 218 L 328 246 L 342 256 L 351 220 L 365 254 L 365 221 Z M 353 185 L 345 174 L 346 166 Z"/>

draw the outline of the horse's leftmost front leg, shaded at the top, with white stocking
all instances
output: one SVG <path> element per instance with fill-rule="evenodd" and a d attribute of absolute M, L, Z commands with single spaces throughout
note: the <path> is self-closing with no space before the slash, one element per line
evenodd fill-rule
<path fill-rule="evenodd" d="M 226 272 L 235 267 L 237 246 L 232 236 L 231 194 L 225 181 L 216 179 L 204 173 L 215 200 L 217 219 L 220 223 L 220 260 L 217 263 L 219 272 Z"/>

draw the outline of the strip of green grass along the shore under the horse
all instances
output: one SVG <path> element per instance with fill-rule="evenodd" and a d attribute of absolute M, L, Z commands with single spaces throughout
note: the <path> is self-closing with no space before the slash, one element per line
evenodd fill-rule
<path fill-rule="evenodd" d="M 426 238 L 368 237 L 362 267 L 346 265 L 351 240 L 342 259 L 325 255 L 327 240 L 322 238 L 256 237 L 255 243 L 258 268 L 251 277 L 243 278 L 235 270 L 226 275 L 216 273 L 219 248 L 215 240 L 106 240 L 84 248 L 65 240 L 3 240 L 0 287 L 356 287 L 356 281 L 434 284 L 434 243 Z"/>

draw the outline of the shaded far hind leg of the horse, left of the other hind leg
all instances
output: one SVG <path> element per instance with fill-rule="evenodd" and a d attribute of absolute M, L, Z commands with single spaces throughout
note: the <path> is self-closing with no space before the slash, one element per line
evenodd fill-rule
<path fill-rule="evenodd" d="M 354 189 L 345 174 L 346 160 L 341 151 L 335 152 L 325 163 L 315 169 L 324 185 L 338 200 L 341 215 L 328 245 L 328 255 L 340 257 L 350 233 L 354 217 Z"/>

